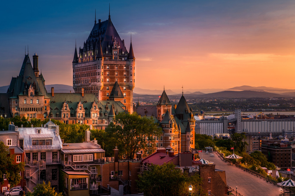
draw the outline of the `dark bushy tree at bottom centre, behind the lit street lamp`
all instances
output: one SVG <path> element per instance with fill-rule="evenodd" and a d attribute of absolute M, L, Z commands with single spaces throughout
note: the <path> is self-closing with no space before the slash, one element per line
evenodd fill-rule
<path fill-rule="evenodd" d="M 194 187 L 192 195 L 203 195 L 201 189 L 202 179 L 198 174 L 188 177 L 172 163 L 163 165 L 150 165 L 142 175 L 139 175 L 137 186 L 144 195 L 188 195 L 188 187 Z"/>

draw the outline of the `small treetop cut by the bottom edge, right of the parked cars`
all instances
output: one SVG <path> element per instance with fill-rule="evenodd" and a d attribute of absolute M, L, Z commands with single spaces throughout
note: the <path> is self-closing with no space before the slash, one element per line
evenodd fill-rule
<path fill-rule="evenodd" d="M 51 187 L 50 182 L 45 184 L 43 181 L 42 184 L 37 184 L 34 187 L 32 193 L 28 193 L 27 196 L 62 196 L 63 194 L 55 192 L 54 188 Z"/>

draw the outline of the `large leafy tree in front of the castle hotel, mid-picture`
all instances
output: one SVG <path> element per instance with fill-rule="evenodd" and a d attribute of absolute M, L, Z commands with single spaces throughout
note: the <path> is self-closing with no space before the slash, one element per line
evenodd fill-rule
<path fill-rule="evenodd" d="M 162 131 L 152 117 L 119 113 L 114 122 L 109 124 L 106 132 L 124 148 L 127 159 L 133 159 L 140 150 L 145 154 L 155 150 L 155 137 L 159 137 Z"/>

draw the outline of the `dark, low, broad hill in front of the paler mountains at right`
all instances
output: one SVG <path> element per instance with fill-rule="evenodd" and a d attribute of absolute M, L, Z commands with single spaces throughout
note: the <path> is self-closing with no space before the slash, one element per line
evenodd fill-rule
<path fill-rule="evenodd" d="M 260 91 L 221 91 L 217 93 L 208 93 L 198 95 L 203 98 L 268 98 L 268 97 L 282 97 L 280 94 L 260 92 Z"/>

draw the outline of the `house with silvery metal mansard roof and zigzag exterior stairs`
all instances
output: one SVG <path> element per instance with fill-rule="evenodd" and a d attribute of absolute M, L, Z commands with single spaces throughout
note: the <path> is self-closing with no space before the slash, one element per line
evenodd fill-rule
<path fill-rule="evenodd" d="M 59 126 L 51 120 L 41 127 L 20 127 L 19 139 L 23 140 L 27 188 L 33 190 L 36 184 L 48 183 L 58 192 L 60 150 L 62 141 Z"/>

